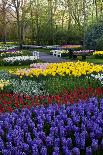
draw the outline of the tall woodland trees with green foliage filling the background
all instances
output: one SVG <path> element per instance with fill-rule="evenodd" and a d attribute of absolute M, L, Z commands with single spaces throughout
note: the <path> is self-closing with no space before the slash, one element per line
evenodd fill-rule
<path fill-rule="evenodd" d="M 0 0 L 1 41 L 81 43 L 103 18 L 102 0 Z"/>

